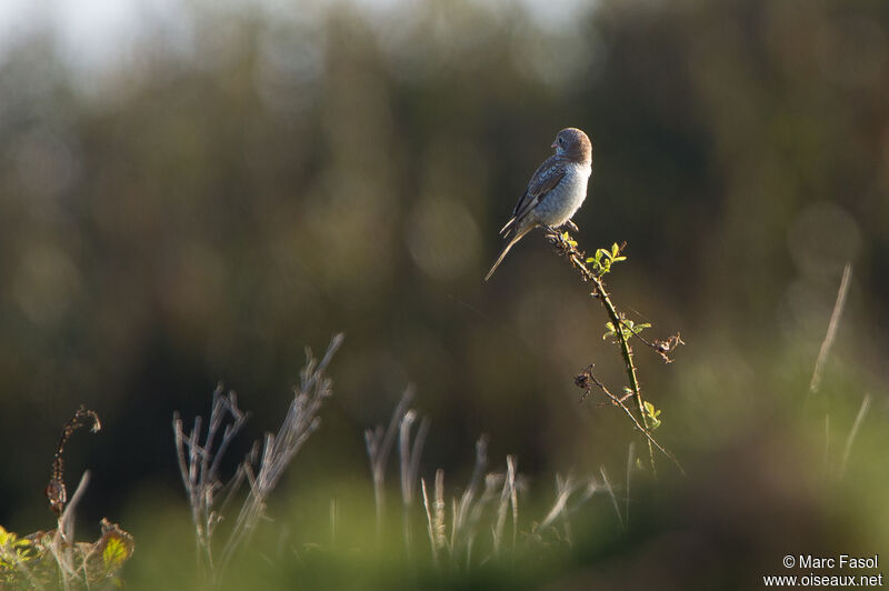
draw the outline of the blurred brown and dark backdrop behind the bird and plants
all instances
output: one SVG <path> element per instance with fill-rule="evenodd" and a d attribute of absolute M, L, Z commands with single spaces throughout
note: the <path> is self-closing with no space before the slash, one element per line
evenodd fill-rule
<path fill-rule="evenodd" d="M 690 475 L 640 493 L 646 533 L 567 577 L 620 580 L 641 555 L 666 584 L 677 531 L 738 572 L 799 544 L 888 550 L 887 27 L 880 0 L 4 2 L 0 523 L 52 527 L 41 491 L 84 403 L 104 429 L 67 452 L 70 480 L 92 470 L 83 527 L 151 539 L 140 515 L 187 510 L 173 411 L 206 413 L 223 381 L 248 440 L 274 430 L 303 348 L 339 331 L 282 499 L 326 511 L 350 482 L 370 500 L 362 432 L 408 383 L 422 474 L 451 490 L 481 433 L 541 497 L 557 472 L 621 473 L 629 423 L 573 385 L 596 363 L 620 388 L 598 304 L 541 232 L 482 281 L 575 126 L 596 154 L 580 247 L 626 241 L 616 301 L 687 343 L 669 365 L 638 353 Z M 787 551 L 729 558 L 775 535 Z"/>

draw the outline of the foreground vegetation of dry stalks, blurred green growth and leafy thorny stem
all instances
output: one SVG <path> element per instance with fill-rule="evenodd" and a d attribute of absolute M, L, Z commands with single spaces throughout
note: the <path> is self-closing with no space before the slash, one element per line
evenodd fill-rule
<path fill-rule="evenodd" d="M 515 455 L 491 461 L 489 438 L 482 435 L 471 472 L 457 484 L 443 470 L 430 473 L 423 467 L 431 422 L 412 408 L 417 394 L 408 388 L 388 424 L 364 433 L 369 478 L 337 480 L 322 469 L 314 471 L 317 481 L 303 482 L 298 469 L 289 469 L 333 395 L 329 368 L 343 342 L 339 334 L 320 359 L 307 350 L 281 425 L 249 447 L 240 461 L 232 450 L 249 413 L 233 391 L 217 388 L 206 421 L 174 414 L 190 519 L 176 508 L 181 495 L 149 494 L 130 515 L 133 530 L 141 532 L 137 540 L 103 520 L 98 541 L 74 541 L 73 513 L 89 474 L 69 499 L 63 451 L 79 428 L 101 427 L 93 411 L 78 410 L 62 431 L 46 491 L 58 527 L 27 537 L 0 530 L 3 587 L 101 589 L 126 579 L 146 589 L 748 588 L 758 584 L 759 575 L 782 573 L 777 563 L 787 553 L 782 548 L 862 554 L 885 548 L 885 528 L 861 530 L 862 523 L 887 520 L 879 493 L 886 460 L 875 453 L 887 443 L 885 410 L 877 417 L 880 424 L 867 427 L 871 397 L 856 404 L 853 397 L 840 395 L 836 379 L 826 373 L 851 268 L 843 274 L 811 377 L 788 382 L 791 393 L 783 398 L 751 401 L 746 415 L 739 411 L 739 417 L 721 419 L 720 429 L 743 425 L 748 438 L 721 440 L 717 424 L 706 421 L 702 427 L 712 428 L 712 451 L 670 438 L 680 447 L 682 463 L 688 458 L 691 464 L 686 470 L 655 437 L 663 418 L 641 398 L 631 345 L 638 340 L 669 362 L 681 339 L 648 341 L 640 334 L 650 324 L 618 311 L 603 276 L 626 260 L 620 247 L 587 258 L 567 233 L 549 232 L 548 238 L 592 284 L 591 296 L 608 317 L 605 338 L 613 341 L 626 365 L 628 385 L 620 395 L 596 377 L 592 364 L 576 379 L 580 404 L 620 409 L 616 417 L 629 418 L 637 433 L 619 472 L 600 465 L 592 474 L 556 474 L 551 487 L 531 482 Z M 766 382 L 777 383 L 769 377 Z M 845 388 L 851 391 L 852 382 Z M 596 392 L 602 398 L 591 395 Z M 721 394 L 743 395 L 731 384 Z M 707 409 L 671 407 L 668 424 L 701 411 Z M 656 457 L 668 459 L 670 469 L 658 470 Z M 880 468 L 876 473 L 875 465 Z M 392 474 L 398 485 L 387 487 Z M 862 479 L 873 483 L 873 495 L 862 494 Z M 690 555 L 702 557 L 701 563 L 688 563 Z"/>

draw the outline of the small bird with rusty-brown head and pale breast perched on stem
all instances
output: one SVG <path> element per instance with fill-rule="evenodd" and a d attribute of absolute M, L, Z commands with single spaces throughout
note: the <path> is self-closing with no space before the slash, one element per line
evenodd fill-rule
<path fill-rule="evenodd" d="M 552 142 L 556 153 L 537 169 L 521 196 L 512 218 L 500 230 L 507 246 L 500 251 L 485 281 L 521 237 L 546 226 L 558 228 L 568 222 L 587 197 L 587 181 L 592 173 L 592 144 L 577 128 L 566 128 Z"/>

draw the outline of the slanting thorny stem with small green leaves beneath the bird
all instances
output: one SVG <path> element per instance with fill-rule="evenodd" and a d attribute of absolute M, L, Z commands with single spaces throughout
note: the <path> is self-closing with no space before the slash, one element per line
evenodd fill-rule
<path fill-rule="evenodd" d="M 641 424 L 639 424 L 639 421 L 622 402 L 620 402 L 617 398 L 615 398 L 607 390 L 605 390 L 602 384 L 597 382 L 597 385 L 599 385 L 606 393 L 608 393 L 610 398 L 612 398 L 612 400 L 616 403 L 618 403 L 621 408 L 623 408 L 627 411 L 627 413 L 632 418 L 633 423 L 636 423 L 637 428 L 639 428 L 639 430 L 642 431 L 642 433 L 646 435 L 648 443 L 648 455 L 651 462 L 651 471 L 655 474 L 657 474 L 657 468 L 655 465 L 655 447 L 658 447 L 658 449 L 660 449 L 665 454 L 667 454 L 668 458 L 672 457 L 669 453 L 667 453 L 660 445 L 657 445 L 657 442 L 653 441 L 651 437 L 650 432 L 651 428 L 648 421 L 648 415 L 646 414 L 645 410 L 645 400 L 642 399 L 642 390 L 639 387 L 639 378 L 636 373 L 636 363 L 633 361 L 632 347 L 630 345 L 629 338 L 627 335 L 628 332 L 630 334 L 635 334 L 635 331 L 630 330 L 629 327 L 627 327 L 627 324 L 623 321 L 625 320 L 623 315 L 618 312 L 617 308 L 615 307 L 615 303 L 611 301 L 611 298 L 609 297 L 608 291 L 605 288 L 605 283 L 602 282 L 600 274 L 591 271 L 589 267 L 587 267 L 585 254 L 577 249 L 577 242 L 575 242 L 571 239 L 568 232 L 560 233 L 558 230 L 549 229 L 547 230 L 547 239 L 550 241 L 550 243 L 552 243 L 556 247 L 557 252 L 566 257 L 571 263 L 571 266 L 580 272 L 581 277 L 583 278 L 583 281 L 592 283 L 591 296 L 598 299 L 602 303 L 602 307 L 605 308 L 608 318 L 611 320 L 611 325 L 615 327 L 615 334 L 618 340 L 618 347 L 620 348 L 620 355 L 623 358 L 623 365 L 627 371 L 627 379 L 629 381 L 630 391 L 632 392 L 633 400 L 636 400 L 636 405 L 637 409 L 639 410 L 639 414 L 642 418 Z M 627 327 L 628 330 L 625 331 L 623 330 L 625 327 Z M 646 344 L 648 344 L 656 351 L 659 351 L 661 357 L 669 360 L 666 353 L 669 352 L 669 350 L 672 347 L 676 347 L 677 342 L 681 343 L 681 340 L 679 340 L 678 337 L 676 338 L 675 341 L 671 338 L 670 340 L 667 341 L 667 343 L 646 342 Z M 667 349 L 667 351 L 663 351 L 665 348 Z"/>

